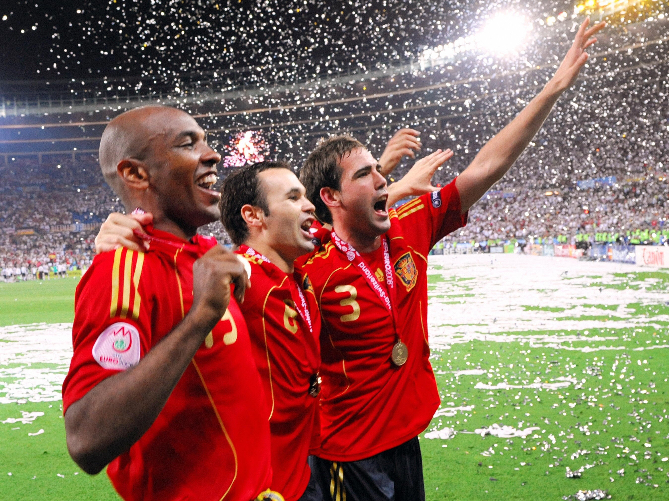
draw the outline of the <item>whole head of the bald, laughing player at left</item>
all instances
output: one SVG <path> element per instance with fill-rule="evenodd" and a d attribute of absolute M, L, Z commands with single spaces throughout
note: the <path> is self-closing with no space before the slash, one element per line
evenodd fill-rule
<path fill-rule="evenodd" d="M 221 216 L 220 161 L 192 116 L 164 106 L 120 114 L 100 140 L 102 174 L 126 210 L 151 212 L 155 228 L 181 238 Z"/>

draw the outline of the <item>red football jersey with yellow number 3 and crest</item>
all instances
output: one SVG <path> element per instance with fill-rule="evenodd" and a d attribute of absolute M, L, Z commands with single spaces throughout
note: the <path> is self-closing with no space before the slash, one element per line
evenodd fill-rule
<path fill-rule="evenodd" d="M 390 220 L 393 307 L 409 352 L 401 367 L 391 361 L 397 341 L 391 315 L 329 234 L 318 232 L 322 244 L 304 263 L 322 315 L 317 455 L 326 460 L 357 461 L 399 446 L 425 430 L 440 403 L 427 343 L 427 254 L 464 226 L 467 214 L 460 214 L 452 182 L 390 210 Z M 382 248 L 362 257 L 385 287 Z"/>

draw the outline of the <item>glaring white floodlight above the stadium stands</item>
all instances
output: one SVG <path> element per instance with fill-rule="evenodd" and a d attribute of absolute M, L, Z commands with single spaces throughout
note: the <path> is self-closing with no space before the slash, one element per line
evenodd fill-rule
<path fill-rule="evenodd" d="M 530 31 L 532 23 L 526 17 L 501 13 L 492 17 L 476 35 L 477 45 L 490 53 L 516 52 L 527 41 Z"/>

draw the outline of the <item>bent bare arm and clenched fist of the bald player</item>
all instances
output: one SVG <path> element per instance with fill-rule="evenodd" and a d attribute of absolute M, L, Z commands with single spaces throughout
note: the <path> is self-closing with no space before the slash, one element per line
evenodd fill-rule
<path fill-rule="evenodd" d="M 216 246 L 193 265 L 193 307 L 183 321 L 135 367 L 104 379 L 70 405 L 68 451 L 82 470 L 100 472 L 149 430 L 195 351 L 223 317 L 231 283 L 241 300 L 244 266 Z"/>

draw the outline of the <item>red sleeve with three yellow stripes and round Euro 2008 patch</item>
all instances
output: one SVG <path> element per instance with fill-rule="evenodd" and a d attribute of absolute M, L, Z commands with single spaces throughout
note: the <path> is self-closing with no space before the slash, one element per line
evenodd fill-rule
<path fill-rule="evenodd" d="M 120 248 L 96 256 L 82 277 L 74 297 L 74 354 L 63 383 L 63 413 L 100 381 L 136 365 L 151 346 L 153 298 L 142 287 L 145 268 L 145 253 Z"/>

